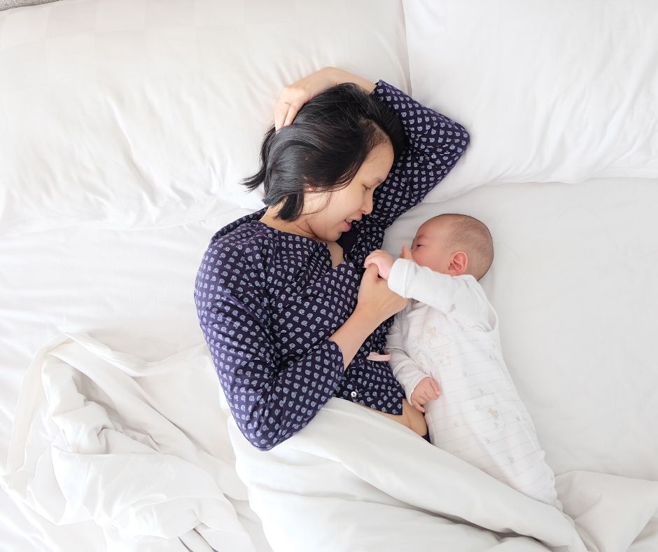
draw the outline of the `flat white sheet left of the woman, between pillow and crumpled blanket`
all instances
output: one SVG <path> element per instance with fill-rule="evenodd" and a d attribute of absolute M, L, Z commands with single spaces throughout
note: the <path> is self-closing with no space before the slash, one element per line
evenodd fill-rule
<path fill-rule="evenodd" d="M 0 471 L 27 366 L 60 332 L 89 331 L 148 361 L 200 343 L 199 259 L 211 235 L 246 212 L 233 207 L 200 223 L 139 232 L 72 227 L 0 237 Z M 0 542 L 21 552 L 105 550 L 94 522 L 57 527 L 5 492 Z"/>

